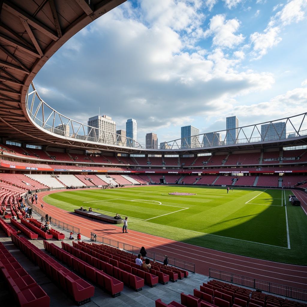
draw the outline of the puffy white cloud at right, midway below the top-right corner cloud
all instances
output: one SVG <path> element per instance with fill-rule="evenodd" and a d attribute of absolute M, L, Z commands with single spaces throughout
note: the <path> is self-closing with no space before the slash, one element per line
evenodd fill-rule
<path fill-rule="evenodd" d="M 259 59 L 267 53 L 269 48 L 277 45 L 282 39 L 278 37 L 279 28 L 267 28 L 263 33 L 255 32 L 251 34 L 250 40 L 253 44 L 253 57 Z"/>

